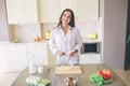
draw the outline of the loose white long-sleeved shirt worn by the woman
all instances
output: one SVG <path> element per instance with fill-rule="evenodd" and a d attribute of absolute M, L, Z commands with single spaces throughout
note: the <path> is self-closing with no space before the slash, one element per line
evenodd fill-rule
<path fill-rule="evenodd" d="M 56 64 L 60 66 L 69 66 L 79 64 L 79 52 L 81 48 L 82 40 L 78 29 L 74 27 L 68 27 L 68 32 L 64 34 L 61 26 L 52 30 L 51 37 L 49 40 L 49 47 L 52 51 L 53 55 L 56 55 L 58 51 L 65 53 L 64 56 L 56 55 Z M 78 53 L 69 58 L 68 53 L 78 49 Z"/>

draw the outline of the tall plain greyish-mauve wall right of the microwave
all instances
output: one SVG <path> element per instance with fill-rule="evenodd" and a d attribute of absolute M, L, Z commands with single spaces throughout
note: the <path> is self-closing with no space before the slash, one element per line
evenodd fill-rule
<path fill-rule="evenodd" d="M 128 0 L 101 0 L 104 23 L 103 62 L 113 69 L 125 68 Z"/>

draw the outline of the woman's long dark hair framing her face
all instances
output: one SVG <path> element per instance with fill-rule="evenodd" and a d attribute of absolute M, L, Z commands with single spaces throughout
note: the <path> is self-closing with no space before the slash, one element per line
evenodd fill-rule
<path fill-rule="evenodd" d="M 70 9 L 65 9 L 65 10 L 62 12 L 62 14 L 61 14 L 61 16 L 60 16 L 60 20 L 58 20 L 57 27 L 58 27 L 60 25 L 62 25 L 62 16 L 63 16 L 63 14 L 64 14 L 66 11 L 69 11 L 70 14 L 72 14 L 72 16 L 70 16 L 70 22 L 69 22 L 68 25 L 72 26 L 72 27 L 75 27 L 75 16 L 74 16 L 74 12 L 73 12 Z"/>

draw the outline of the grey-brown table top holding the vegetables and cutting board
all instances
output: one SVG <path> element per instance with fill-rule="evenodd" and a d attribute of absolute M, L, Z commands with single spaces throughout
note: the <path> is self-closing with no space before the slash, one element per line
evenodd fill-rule
<path fill-rule="evenodd" d="M 55 74 L 55 66 L 44 66 L 43 74 L 29 74 L 28 68 L 26 68 L 13 82 L 12 86 L 27 86 L 26 77 L 29 75 L 36 75 L 46 80 L 50 80 L 48 86 L 65 86 L 63 78 L 66 76 L 75 76 L 78 78 L 77 86 L 98 86 L 89 81 L 89 76 L 96 73 L 99 70 L 109 69 L 112 71 L 113 83 L 104 84 L 103 86 L 126 86 L 122 80 L 106 64 L 104 63 L 91 63 L 91 64 L 80 64 L 82 73 L 81 74 Z"/>

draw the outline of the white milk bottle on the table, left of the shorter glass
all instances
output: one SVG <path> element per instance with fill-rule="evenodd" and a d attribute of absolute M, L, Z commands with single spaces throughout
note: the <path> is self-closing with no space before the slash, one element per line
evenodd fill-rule
<path fill-rule="evenodd" d="M 35 55 L 30 55 L 28 57 L 28 70 L 29 70 L 29 73 L 36 73 L 36 57 Z"/>

